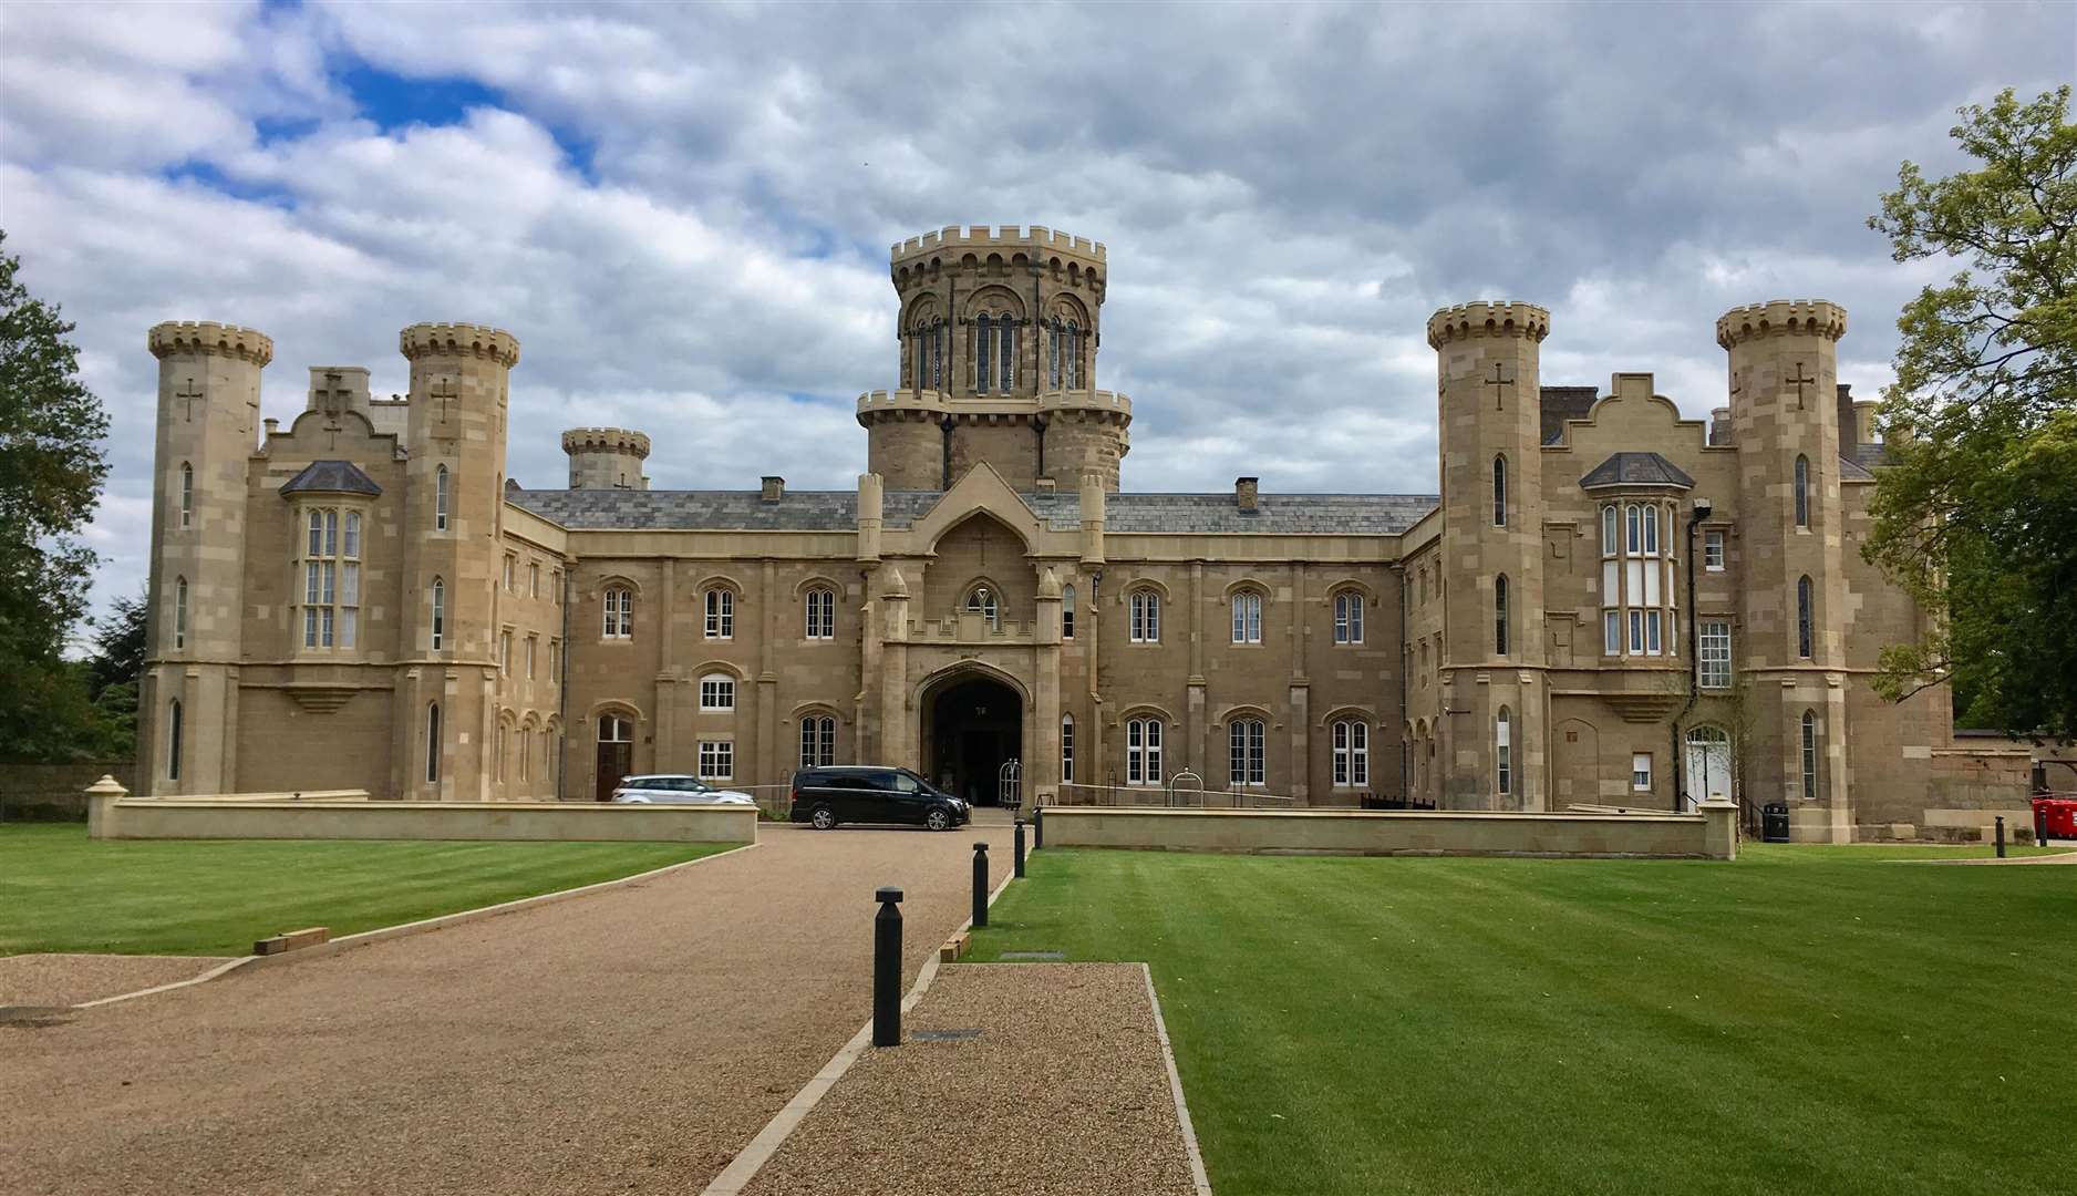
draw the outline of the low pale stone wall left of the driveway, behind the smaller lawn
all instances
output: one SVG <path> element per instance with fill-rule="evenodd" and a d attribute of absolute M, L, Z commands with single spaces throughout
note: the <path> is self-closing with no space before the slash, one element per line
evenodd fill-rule
<path fill-rule="evenodd" d="M 756 843 L 756 806 L 96 795 L 96 839 L 525 839 Z"/>

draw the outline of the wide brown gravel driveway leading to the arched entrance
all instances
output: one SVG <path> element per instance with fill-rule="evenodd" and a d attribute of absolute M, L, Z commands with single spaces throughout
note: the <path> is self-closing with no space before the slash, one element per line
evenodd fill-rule
<path fill-rule="evenodd" d="M 64 1022 L 0 1024 L 0 1192 L 698 1192 L 870 1015 L 1009 828 L 814 833 Z"/>

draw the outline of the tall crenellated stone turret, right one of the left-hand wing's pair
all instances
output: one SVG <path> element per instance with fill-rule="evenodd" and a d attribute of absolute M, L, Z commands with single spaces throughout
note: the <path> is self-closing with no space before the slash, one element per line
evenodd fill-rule
<path fill-rule="evenodd" d="M 519 341 L 478 324 L 413 324 L 399 349 L 411 361 L 411 395 L 397 793 L 484 799 L 496 718 L 505 411 Z M 430 762 L 428 752 L 440 758 Z"/>

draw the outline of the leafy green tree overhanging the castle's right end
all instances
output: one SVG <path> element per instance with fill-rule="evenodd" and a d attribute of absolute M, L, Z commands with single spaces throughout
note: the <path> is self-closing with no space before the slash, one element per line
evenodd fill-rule
<path fill-rule="evenodd" d="M 2077 127 L 2071 87 L 2006 89 L 1950 135 L 1975 166 L 1911 162 L 1867 226 L 1896 262 L 1967 268 L 1896 328 L 1896 384 L 1863 554 L 1934 613 L 1878 689 L 1952 681 L 1965 725 L 2077 733 Z"/>

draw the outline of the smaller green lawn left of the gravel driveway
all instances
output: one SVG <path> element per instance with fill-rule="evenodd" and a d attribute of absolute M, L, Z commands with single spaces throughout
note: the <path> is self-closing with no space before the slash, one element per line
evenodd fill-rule
<path fill-rule="evenodd" d="M 102 841 L 0 826 L 0 955 L 245 955 L 301 926 L 332 936 L 631 876 L 712 843 Z"/>

